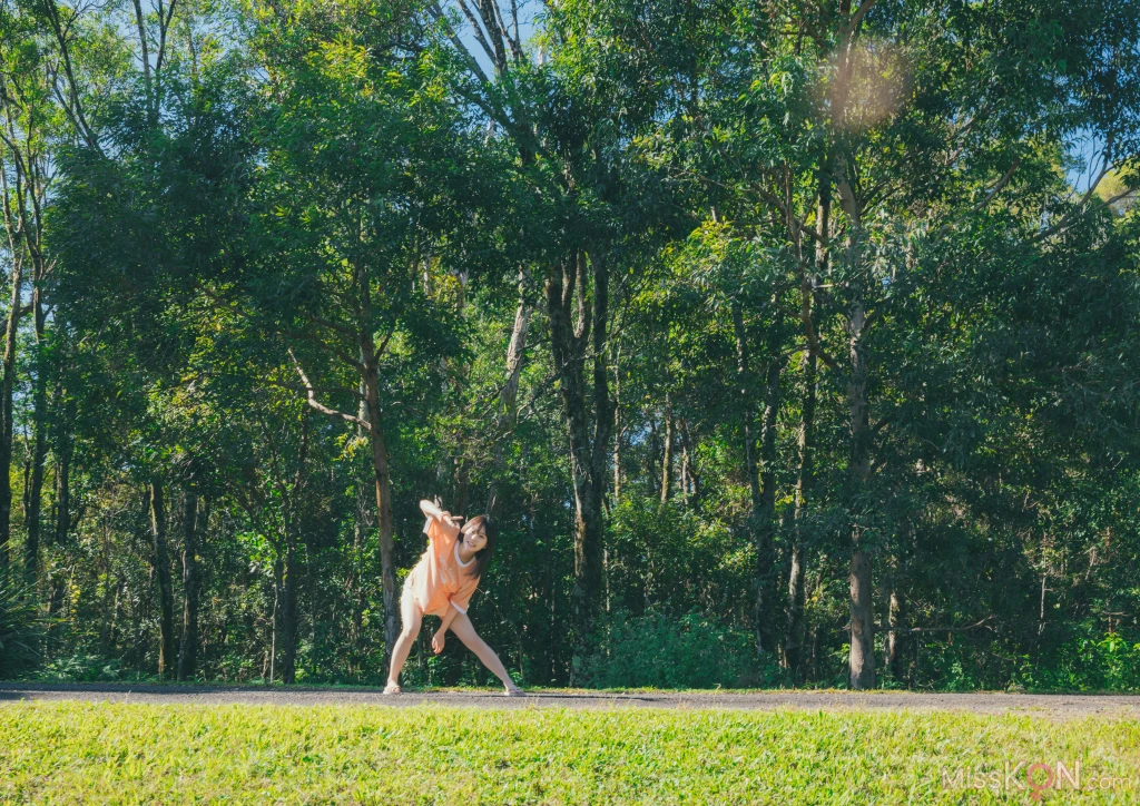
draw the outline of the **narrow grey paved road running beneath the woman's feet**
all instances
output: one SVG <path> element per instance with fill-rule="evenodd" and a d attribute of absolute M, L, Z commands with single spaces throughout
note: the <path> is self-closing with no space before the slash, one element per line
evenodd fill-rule
<path fill-rule="evenodd" d="M 244 702 L 279 706 L 390 706 L 423 703 L 480 708 L 717 708 L 773 710 L 776 708 L 870 711 L 962 710 L 978 714 L 1036 714 L 1051 717 L 1118 716 L 1140 718 L 1140 695 L 1084 694 L 925 694 L 909 692 L 792 692 L 735 693 L 567 693 L 535 692 L 506 698 L 498 692 L 432 692 L 384 697 L 378 689 L 268 689 L 220 685 L 156 684 L 32 684 L 0 683 L 0 703 L 22 700 L 85 700 L 178 705 Z"/>

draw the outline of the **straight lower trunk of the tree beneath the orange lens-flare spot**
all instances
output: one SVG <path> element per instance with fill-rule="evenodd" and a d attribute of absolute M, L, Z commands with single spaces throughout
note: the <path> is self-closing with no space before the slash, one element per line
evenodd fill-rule
<path fill-rule="evenodd" d="M 874 687 L 874 618 L 871 554 L 863 540 L 857 522 L 864 506 L 862 494 L 871 475 L 871 429 L 868 405 L 868 369 L 863 343 L 866 318 L 863 306 L 856 301 L 850 309 L 850 375 L 847 381 L 847 401 L 850 410 L 850 472 L 852 506 L 856 522 L 852 524 L 850 562 L 850 657 L 848 682 L 852 689 Z"/>

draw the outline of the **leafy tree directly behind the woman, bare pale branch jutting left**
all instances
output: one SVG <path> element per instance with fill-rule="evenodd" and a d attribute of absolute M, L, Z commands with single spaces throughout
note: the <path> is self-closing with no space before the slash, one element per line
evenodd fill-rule
<path fill-rule="evenodd" d="M 259 52 L 272 123 L 262 140 L 259 272 L 247 280 L 308 405 L 367 434 L 388 646 L 399 595 L 384 410 L 401 371 L 455 350 L 431 278 L 441 264 L 478 269 L 471 242 L 483 226 L 469 201 L 481 178 L 464 164 L 473 132 L 424 78 L 407 24 L 373 17 L 367 3 L 345 7 L 329 40 L 304 5 L 266 18 Z M 335 364 L 317 374 L 315 361 Z M 363 405 L 329 406 L 329 393 Z"/>

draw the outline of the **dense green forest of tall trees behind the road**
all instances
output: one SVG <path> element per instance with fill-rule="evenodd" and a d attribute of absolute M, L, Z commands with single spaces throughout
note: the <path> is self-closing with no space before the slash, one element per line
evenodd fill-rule
<path fill-rule="evenodd" d="M 1140 689 L 1131 0 L 0 0 L 0 678 Z M 422 635 L 412 686 L 483 685 Z"/>

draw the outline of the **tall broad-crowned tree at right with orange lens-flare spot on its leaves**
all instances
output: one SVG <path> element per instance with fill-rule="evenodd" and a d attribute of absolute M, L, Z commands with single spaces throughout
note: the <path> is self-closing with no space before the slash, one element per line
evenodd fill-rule
<path fill-rule="evenodd" d="M 877 479 L 897 461 L 885 440 L 889 398 L 878 358 L 906 337 L 894 309 L 923 293 L 947 237 L 991 214 L 996 200 L 1027 205 L 1043 186 L 1060 189 L 1051 169 L 1066 138 L 1077 136 L 1074 121 L 1097 120 L 1105 171 L 1132 158 L 1134 146 L 1122 140 L 1137 108 L 1134 54 L 1124 44 L 1134 33 L 1122 33 L 1132 23 L 1117 6 L 1098 11 L 944 16 L 845 1 L 817 25 L 793 10 L 799 22 L 788 29 L 741 9 L 748 22 L 736 47 L 715 50 L 724 79 L 705 91 L 706 125 L 690 135 L 700 143 L 699 176 L 717 188 L 720 171 L 747 177 L 732 186 L 746 204 L 735 220 L 747 217 L 782 241 L 799 278 L 803 335 L 846 399 L 853 687 L 876 684 L 872 565 L 889 495 Z M 997 33 L 1011 29 L 1032 33 L 1011 43 Z M 1056 56 L 1048 70 L 1019 70 L 1044 54 Z M 1091 95 L 1106 81 L 1116 88 L 1107 105 Z M 718 130 L 731 136 L 715 137 Z M 1088 211 L 1092 195 L 1075 204 L 1052 195 L 1050 223 L 1026 215 L 1019 236 L 1048 242 Z"/>

